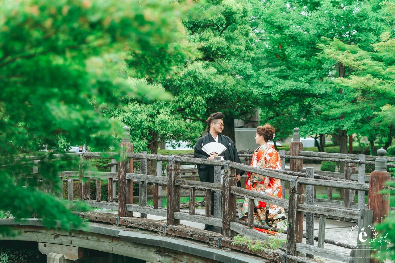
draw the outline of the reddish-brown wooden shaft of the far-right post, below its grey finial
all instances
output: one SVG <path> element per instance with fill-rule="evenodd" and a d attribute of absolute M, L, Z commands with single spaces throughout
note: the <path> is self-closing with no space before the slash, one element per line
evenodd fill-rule
<path fill-rule="evenodd" d="M 388 172 L 373 171 L 370 174 L 368 207 L 373 210 L 373 224 L 381 223 L 382 217 L 389 214 Z M 383 190 L 386 193 L 383 193 Z"/>

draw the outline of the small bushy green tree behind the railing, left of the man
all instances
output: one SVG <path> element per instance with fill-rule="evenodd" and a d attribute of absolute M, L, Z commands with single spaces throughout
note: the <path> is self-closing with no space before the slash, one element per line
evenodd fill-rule
<path fill-rule="evenodd" d="M 134 85 L 148 85 L 150 93 L 163 93 L 164 88 L 158 83 L 148 84 L 144 79 L 132 79 Z M 148 150 L 151 154 L 158 153 L 160 141 L 180 141 L 196 143 L 202 125 L 200 122 L 184 120 L 177 113 L 178 105 L 170 98 L 168 100 L 148 100 L 147 97 L 124 98 L 123 107 L 111 109 L 106 113 L 116 120 L 130 127 L 130 138 L 134 146 L 134 152 Z M 156 175 L 156 162 L 148 163 L 148 174 Z"/>

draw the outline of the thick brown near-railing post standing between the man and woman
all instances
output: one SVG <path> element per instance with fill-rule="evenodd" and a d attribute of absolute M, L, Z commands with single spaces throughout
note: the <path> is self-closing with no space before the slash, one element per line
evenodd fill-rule
<path fill-rule="evenodd" d="M 224 167 L 224 182 L 222 184 L 222 235 L 225 237 L 234 237 L 236 232 L 230 229 L 230 222 L 236 222 L 237 195 L 231 193 L 231 187 L 236 186 L 236 169 L 228 164 Z"/>

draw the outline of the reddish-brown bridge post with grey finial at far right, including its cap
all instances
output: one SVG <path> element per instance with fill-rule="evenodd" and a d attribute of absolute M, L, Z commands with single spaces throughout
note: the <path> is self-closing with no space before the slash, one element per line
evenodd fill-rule
<path fill-rule="evenodd" d="M 370 174 L 368 209 L 373 210 L 373 224 L 381 223 L 389 213 L 389 181 L 391 176 L 387 172 L 387 151 L 383 148 L 377 150 L 374 171 Z"/>

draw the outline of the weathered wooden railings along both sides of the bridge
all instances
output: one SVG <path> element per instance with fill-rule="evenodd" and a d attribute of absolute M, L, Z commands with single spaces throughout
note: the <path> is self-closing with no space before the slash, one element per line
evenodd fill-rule
<path fill-rule="evenodd" d="M 267 234 L 254 229 L 254 227 L 259 228 L 261 226 L 254 225 L 253 213 L 248 213 L 247 224 L 243 224 L 242 222 L 238 221 L 236 203 L 237 197 L 248 198 L 249 210 L 253 210 L 254 200 L 279 205 L 280 207 L 284 207 L 288 210 L 288 227 L 284 232 L 287 235 L 286 239 L 288 241 L 285 242 L 286 246 L 282 248 L 286 251 L 286 253 L 289 254 L 285 255 L 286 258 L 292 259 L 293 261 L 297 262 L 309 262 L 307 258 L 303 257 L 302 259 L 301 257 L 297 257 L 297 255 L 300 255 L 300 253 L 305 253 L 310 258 L 313 257 L 312 254 L 314 254 L 322 257 L 349 262 L 347 259 L 347 255 L 339 253 L 335 250 L 329 250 L 327 248 L 324 248 L 325 242 L 331 244 L 335 243 L 333 242 L 333 240 L 325 239 L 325 222 L 327 216 L 356 219 L 359 220 L 359 224 L 361 226 L 377 222 L 374 220 L 372 210 L 367 210 L 367 206 L 365 205 L 365 192 L 371 191 L 372 185 L 369 185 L 369 183 L 365 183 L 365 181 L 369 182 L 369 180 L 367 180 L 369 178 L 365 175 L 364 165 L 374 164 L 374 162 L 366 161 L 372 160 L 371 156 L 357 156 L 358 160 L 355 160 L 352 159 L 355 158 L 354 155 L 306 152 L 303 151 L 303 145 L 300 145 L 300 142 L 298 144 L 297 141 L 294 141 L 291 143 L 290 152 L 280 150 L 282 170 L 272 170 L 250 167 L 248 164 L 250 162 L 249 159 L 252 157 L 252 151 L 239 152 L 239 155 L 245 158 L 245 164 L 230 161 L 197 159 L 189 157 L 190 155 L 163 156 L 160 154 L 147 154 L 146 152 L 133 153 L 131 152 L 132 147 L 130 146 L 130 141 L 127 139 L 128 137 L 129 135 L 128 133 L 126 133 L 124 135 L 124 138 L 122 139 L 122 147 L 120 147 L 119 153 L 83 152 L 81 154 L 66 154 L 70 158 L 80 158 L 79 171 L 66 171 L 59 173 L 61 182 L 68 182 L 68 199 L 70 201 L 73 199 L 73 182 L 78 181 L 79 199 L 84 200 L 86 203 L 89 203 L 90 205 L 92 205 L 92 207 L 117 210 L 118 221 L 119 218 L 132 217 L 133 212 L 139 212 L 141 218 L 147 218 L 147 214 L 162 216 L 166 218 L 164 233 L 167 233 L 166 226 L 179 226 L 180 220 L 214 225 L 216 231 L 220 233 L 220 235 L 216 235 L 218 244 L 221 244 L 222 238 L 232 239 L 235 235 L 237 235 L 237 233 L 247 235 L 252 239 L 262 240 L 263 242 L 268 240 Z M 296 145 L 296 147 L 295 143 L 298 144 Z M 297 150 L 295 151 L 295 149 Z M 377 158 L 377 156 L 374 157 Z M 89 165 L 89 160 L 94 158 L 108 159 L 109 162 L 111 162 L 111 172 L 92 171 Z M 296 160 L 295 162 L 291 163 L 290 170 L 285 170 L 286 158 L 290 160 Z M 302 160 L 306 160 L 306 158 L 308 158 L 308 160 L 310 160 L 311 158 L 311 160 L 330 159 L 333 162 L 359 163 L 359 173 L 353 174 L 351 165 L 349 165 L 350 167 L 346 168 L 344 174 L 314 171 L 314 169 L 312 168 L 302 169 Z M 138 162 L 141 163 L 141 169 L 139 174 L 131 173 L 133 172 L 133 163 L 136 159 L 138 159 Z M 157 162 L 158 176 L 147 175 L 147 160 L 153 160 Z M 387 157 L 384 160 L 395 162 L 395 158 Z M 18 160 L 16 160 L 16 162 L 17 161 Z M 26 162 L 26 158 L 24 158 L 24 161 Z M 35 157 L 29 157 L 27 161 L 32 162 L 33 173 L 39 173 L 39 164 L 37 161 L 35 161 Z M 167 162 L 166 176 L 162 176 L 162 162 Z M 216 178 L 214 180 L 216 180 L 216 183 L 196 181 L 196 170 L 181 170 L 181 163 L 214 166 L 214 174 Z M 392 167 L 392 164 L 389 163 L 386 163 L 384 165 Z M 116 172 L 117 166 L 118 173 Z M 218 178 L 220 177 L 220 167 L 224 167 L 224 180 L 222 184 L 218 181 Z M 288 182 L 290 185 L 289 199 L 286 200 L 284 198 L 264 195 L 261 193 L 256 193 L 237 187 L 235 174 L 236 169 L 280 179 L 282 181 L 284 189 L 285 182 Z M 343 175 L 342 178 L 340 178 L 340 175 Z M 186 180 L 186 178 L 188 177 L 192 178 L 192 180 Z M 353 181 L 353 179 L 358 179 L 358 182 Z M 90 180 L 95 180 L 96 198 L 94 200 L 90 198 Z M 107 201 L 102 200 L 101 196 L 102 180 L 108 181 Z M 138 205 L 135 204 L 133 200 L 133 184 L 137 182 L 139 183 Z M 118 192 L 116 192 L 116 183 L 118 183 Z M 152 207 L 147 206 L 147 184 L 153 184 Z M 162 186 L 165 186 L 167 188 L 166 208 L 162 207 L 161 205 L 161 198 L 163 197 L 161 193 Z M 352 197 L 349 199 L 345 198 L 345 201 L 341 203 L 341 208 L 339 207 L 339 201 L 335 202 L 333 200 L 330 200 L 329 196 L 328 200 L 314 198 L 314 188 L 316 186 L 324 186 L 327 188 L 341 188 L 348 191 L 347 196 L 351 196 L 351 191 L 358 191 L 359 204 L 357 205 L 355 202 L 352 202 Z M 45 191 L 51 192 L 50 186 L 43 184 L 43 187 Z M 304 192 L 305 188 L 306 193 Z M 190 205 L 188 212 L 183 212 L 180 209 L 181 189 L 187 189 L 189 191 Z M 204 214 L 196 214 L 195 212 L 195 197 L 197 196 L 198 191 L 203 193 L 200 195 L 205 196 Z M 216 193 L 217 196 L 214 204 L 211 203 L 211 193 L 213 191 Z M 283 190 L 283 193 L 284 192 L 285 191 Z M 218 201 L 218 196 L 220 196 L 220 193 L 222 193 L 222 206 L 221 202 Z M 63 192 L 59 193 L 58 195 L 60 198 L 63 198 Z M 371 193 L 369 193 L 369 196 L 371 196 Z M 222 211 L 222 213 L 216 213 L 213 217 L 211 215 L 212 205 L 215 206 L 214 210 Z M 385 213 L 385 211 L 383 213 Z M 304 214 L 306 214 L 307 216 L 305 235 L 303 235 Z M 318 231 L 319 234 L 316 237 L 314 237 L 314 215 L 318 215 L 320 217 L 320 225 Z M 363 220 L 361 220 L 361 218 L 363 218 Z M 124 219 L 124 221 L 125 220 L 126 219 Z M 130 222 L 128 224 L 130 225 Z M 147 225 L 147 223 L 144 224 Z M 279 230 L 276 228 L 271 229 L 273 231 Z M 181 235 L 185 237 L 186 234 L 184 232 L 182 232 L 182 234 L 180 233 L 177 234 L 177 231 L 173 231 L 171 234 Z M 303 237 L 306 237 L 305 244 L 302 242 Z M 314 240 L 318 241 L 317 247 L 314 246 Z M 223 244 L 223 246 L 235 248 L 235 246 L 231 246 L 229 242 Z M 340 246 L 344 246 L 344 244 L 340 243 Z M 354 249 L 352 252 L 353 254 L 362 253 L 361 251 L 355 250 L 355 247 L 353 246 L 349 246 L 349 248 Z M 273 252 L 273 255 L 274 254 L 275 257 L 281 258 L 284 252 L 281 252 L 279 250 Z"/>

